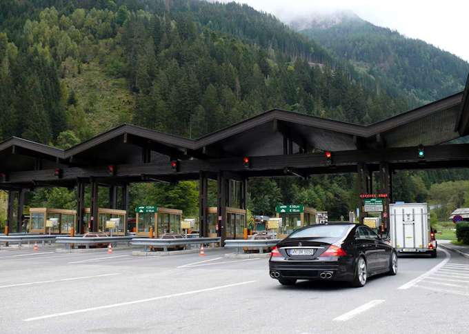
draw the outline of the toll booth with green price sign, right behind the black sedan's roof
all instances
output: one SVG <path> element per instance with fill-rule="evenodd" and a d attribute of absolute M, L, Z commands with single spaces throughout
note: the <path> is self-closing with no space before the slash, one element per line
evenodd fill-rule
<path fill-rule="evenodd" d="M 287 237 L 290 233 L 303 226 L 317 224 L 317 210 L 315 208 L 308 208 L 301 204 L 288 204 L 277 205 L 275 208 L 279 227 L 270 229 L 271 232 L 276 232 L 279 239 Z"/>

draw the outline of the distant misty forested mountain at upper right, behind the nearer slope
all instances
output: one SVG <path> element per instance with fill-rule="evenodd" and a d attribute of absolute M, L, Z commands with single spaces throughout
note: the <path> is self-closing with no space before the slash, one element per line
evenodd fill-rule
<path fill-rule="evenodd" d="M 412 105 L 435 101 L 463 90 L 469 63 L 419 39 L 374 26 L 352 12 L 312 14 L 293 21 L 336 57 L 352 61 L 358 70 L 407 94 Z"/>

